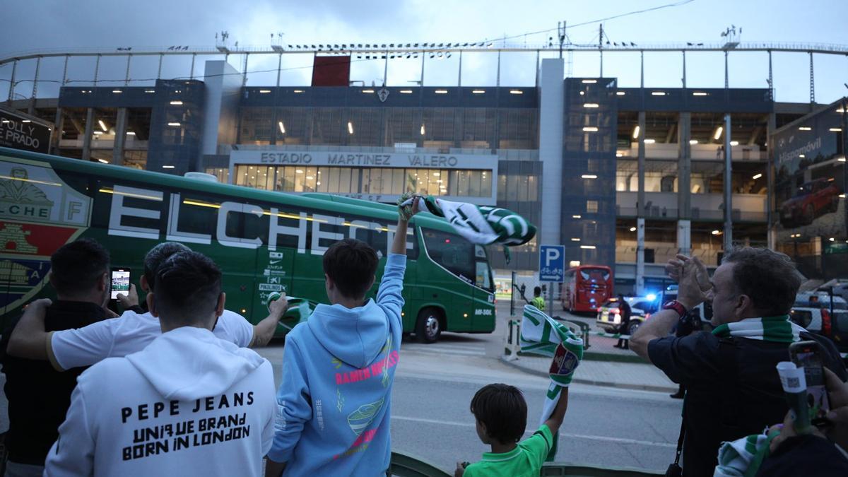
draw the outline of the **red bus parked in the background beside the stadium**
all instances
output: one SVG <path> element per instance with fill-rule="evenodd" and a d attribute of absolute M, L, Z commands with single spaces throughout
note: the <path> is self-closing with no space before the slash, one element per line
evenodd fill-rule
<path fill-rule="evenodd" d="M 562 309 L 570 312 L 598 311 L 612 297 L 612 270 L 603 265 L 569 268 L 562 283 Z"/>

